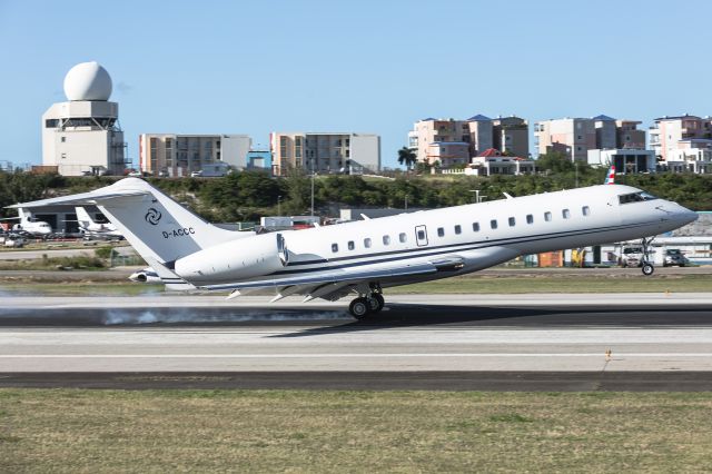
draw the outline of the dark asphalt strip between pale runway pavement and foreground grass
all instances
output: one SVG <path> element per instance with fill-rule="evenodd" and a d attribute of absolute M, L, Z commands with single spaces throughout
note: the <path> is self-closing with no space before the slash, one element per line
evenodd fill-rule
<path fill-rule="evenodd" d="M 0 373 L 0 388 L 709 392 L 706 372 Z"/>

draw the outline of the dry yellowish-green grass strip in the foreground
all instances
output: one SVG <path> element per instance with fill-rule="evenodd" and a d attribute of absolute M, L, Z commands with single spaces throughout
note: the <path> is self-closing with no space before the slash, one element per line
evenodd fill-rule
<path fill-rule="evenodd" d="M 0 389 L 3 472 L 702 472 L 712 394 Z"/>

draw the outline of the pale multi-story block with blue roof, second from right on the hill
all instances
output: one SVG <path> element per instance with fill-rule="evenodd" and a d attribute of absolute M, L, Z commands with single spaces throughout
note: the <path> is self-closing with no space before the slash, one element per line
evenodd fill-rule
<path fill-rule="evenodd" d="M 590 150 L 644 149 L 645 132 L 636 120 L 616 120 L 604 115 L 593 118 L 543 120 L 534 125 L 540 155 L 561 151 L 572 160 L 585 161 Z"/>

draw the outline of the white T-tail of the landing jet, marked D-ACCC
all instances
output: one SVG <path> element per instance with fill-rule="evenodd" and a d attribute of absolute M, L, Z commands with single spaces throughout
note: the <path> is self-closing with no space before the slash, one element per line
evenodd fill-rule
<path fill-rule="evenodd" d="M 247 237 L 216 227 L 138 178 L 125 178 L 90 192 L 10 207 L 96 205 L 144 259 L 174 260 L 227 240 Z M 170 265 L 168 265 L 170 266 Z"/>

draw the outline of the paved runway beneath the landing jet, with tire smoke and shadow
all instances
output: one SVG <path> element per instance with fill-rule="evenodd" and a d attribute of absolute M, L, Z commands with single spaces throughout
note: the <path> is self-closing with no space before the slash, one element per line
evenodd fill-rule
<path fill-rule="evenodd" d="M 0 386 L 164 384 L 157 374 L 214 386 L 221 374 L 218 386 L 712 389 L 710 294 L 403 295 L 369 323 L 345 306 L 3 298 Z"/>

